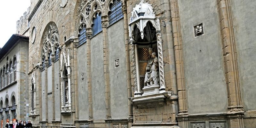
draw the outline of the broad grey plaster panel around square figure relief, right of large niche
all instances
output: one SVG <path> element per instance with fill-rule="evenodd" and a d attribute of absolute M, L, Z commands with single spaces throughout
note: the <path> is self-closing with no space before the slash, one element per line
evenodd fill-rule
<path fill-rule="evenodd" d="M 195 4 L 196 3 L 196 4 Z M 228 107 L 217 2 L 178 1 L 188 113 L 226 112 Z M 194 37 L 193 26 L 204 34 Z"/>

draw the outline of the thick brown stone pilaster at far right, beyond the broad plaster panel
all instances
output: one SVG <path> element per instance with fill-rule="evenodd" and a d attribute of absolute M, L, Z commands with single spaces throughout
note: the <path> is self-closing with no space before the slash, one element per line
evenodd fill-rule
<path fill-rule="evenodd" d="M 230 127 L 244 127 L 240 94 L 240 82 L 236 57 L 230 0 L 217 0 L 220 19 L 220 33 L 224 59 L 224 69 L 228 94 L 228 117 Z"/>

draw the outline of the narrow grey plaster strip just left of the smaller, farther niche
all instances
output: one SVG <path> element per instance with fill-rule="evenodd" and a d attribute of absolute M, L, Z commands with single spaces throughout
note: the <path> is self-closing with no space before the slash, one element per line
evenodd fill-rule
<path fill-rule="evenodd" d="M 54 62 L 54 93 L 55 93 L 55 120 L 60 121 L 60 60 L 57 60 Z M 57 89 L 57 84 L 58 84 L 58 89 Z"/>

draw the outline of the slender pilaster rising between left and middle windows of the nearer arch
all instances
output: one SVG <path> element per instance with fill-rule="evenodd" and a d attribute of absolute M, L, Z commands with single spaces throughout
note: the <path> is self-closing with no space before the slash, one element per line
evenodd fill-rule
<path fill-rule="evenodd" d="M 87 46 L 87 81 L 88 81 L 88 101 L 89 101 L 89 120 L 93 120 L 92 109 L 92 65 L 91 65 L 91 37 L 92 28 L 86 28 L 86 46 Z"/>

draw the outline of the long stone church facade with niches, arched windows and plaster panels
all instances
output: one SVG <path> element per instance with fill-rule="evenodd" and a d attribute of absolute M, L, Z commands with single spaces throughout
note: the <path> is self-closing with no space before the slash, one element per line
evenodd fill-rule
<path fill-rule="evenodd" d="M 31 0 L 34 126 L 256 127 L 247 0 Z"/>

